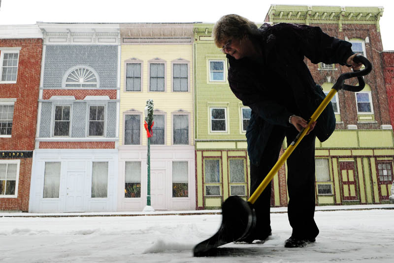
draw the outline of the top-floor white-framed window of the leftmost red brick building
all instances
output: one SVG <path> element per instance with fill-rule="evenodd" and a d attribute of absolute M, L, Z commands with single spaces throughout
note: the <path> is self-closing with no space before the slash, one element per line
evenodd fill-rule
<path fill-rule="evenodd" d="M 0 53 L 0 80 L 4 83 L 16 83 L 18 76 L 19 51 L 5 51 Z"/>

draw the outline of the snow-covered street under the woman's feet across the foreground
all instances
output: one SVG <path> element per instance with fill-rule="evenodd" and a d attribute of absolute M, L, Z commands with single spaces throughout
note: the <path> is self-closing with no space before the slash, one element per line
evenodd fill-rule
<path fill-rule="evenodd" d="M 367 210 L 345 210 L 348 208 Z M 0 213 L 0 262 L 392 263 L 393 208 L 394 205 L 317 207 L 315 219 L 320 234 L 316 242 L 293 249 L 284 247 L 285 239 L 291 235 L 286 208 L 273 208 L 273 232 L 264 244 L 231 243 L 219 250 L 220 255 L 209 258 L 194 258 L 192 250 L 198 242 L 212 236 L 222 221 L 221 215 L 204 212 L 218 211 L 200 211 L 196 215 L 157 215 L 163 212 L 156 211 L 145 216 L 96 213 L 100 216 L 44 218 L 30 217 L 37 214 Z"/>

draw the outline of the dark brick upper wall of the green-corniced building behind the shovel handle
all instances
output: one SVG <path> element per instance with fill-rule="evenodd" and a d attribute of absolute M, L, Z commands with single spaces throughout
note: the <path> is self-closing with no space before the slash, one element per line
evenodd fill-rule
<path fill-rule="evenodd" d="M 383 46 L 380 33 L 376 31 L 376 26 L 345 24 L 343 25 L 342 32 L 339 32 L 338 25 L 336 24 L 311 24 L 311 26 L 319 26 L 328 35 L 339 39 L 345 39 L 346 37 L 348 39 L 358 38 L 364 40 L 367 37 L 369 38 L 369 43 L 365 42 L 365 52 L 366 57 L 372 63 L 373 70 L 364 77 L 364 80 L 371 88 L 374 116 L 377 123 L 358 123 L 355 94 L 341 90 L 338 92 L 338 99 L 343 124 L 337 124 L 336 129 L 346 129 L 349 124 L 357 125 L 358 129 L 380 129 L 380 125 L 382 124 L 390 124 L 389 101 L 386 96 L 380 56 Z M 340 74 L 350 71 L 349 68 L 339 64 L 335 65 L 337 70 L 318 70 L 318 65 L 312 64 L 309 60 L 306 60 L 306 62 L 316 83 L 320 85 L 327 82 L 327 76 L 330 76 L 331 82 L 335 83 Z M 355 85 L 357 80 L 352 79 L 345 83 Z"/>

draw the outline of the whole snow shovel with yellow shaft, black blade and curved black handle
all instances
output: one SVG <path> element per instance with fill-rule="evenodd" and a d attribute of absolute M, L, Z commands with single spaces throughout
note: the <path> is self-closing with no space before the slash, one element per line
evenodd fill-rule
<path fill-rule="evenodd" d="M 348 91 L 359 92 L 364 88 L 365 82 L 362 76 L 371 72 L 372 65 L 365 57 L 361 55 L 357 55 L 354 58 L 354 61 L 361 62 L 365 68 L 361 71 L 344 73 L 338 77 L 338 80 L 332 86 L 331 91 L 310 117 L 308 126 L 298 133 L 296 139 L 294 139 L 294 141 L 288 146 L 287 150 L 285 150 L 276 164 L 272 167 L 271 171 L 264 178 L 263 182 L 247 201 L 237 195 L 233 195 L 223 202 L 222 224 L 220 225 L 219 230 L 212 237 L 200 242 L 194 247 L 193 253 L 195 257 L 215 255 L 215 248 L 240 240 L 249 236 L 253 232 L 254 226 L 256 225 L 256 214 L 252 208 L 252 204 L 256 202 L 257 198 L 259 198 L 263 190 L 279 171 L 279 168 L 285 163 L 293 150 L 296 149 L 302 138 L 308 133 L 310 125 L 320 116 L 338 90 L 344 89 Z M 358 86 L 344 84 L 345 79 L 352 77 L 358 78 Z"/>

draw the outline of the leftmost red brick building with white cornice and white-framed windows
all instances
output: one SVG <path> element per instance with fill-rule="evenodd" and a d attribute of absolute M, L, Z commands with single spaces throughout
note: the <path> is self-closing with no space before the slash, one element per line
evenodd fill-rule
<path fill-rule="evenodd" d="M 41 58 L 38 26 L 0 26 L 0 210 L 29 209 Z"/>

